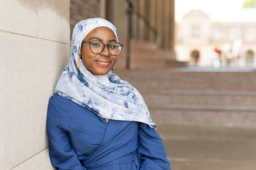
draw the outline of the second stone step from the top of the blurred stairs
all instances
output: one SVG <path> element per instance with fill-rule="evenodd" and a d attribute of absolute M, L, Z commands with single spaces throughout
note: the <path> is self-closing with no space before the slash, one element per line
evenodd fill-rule
<path fill-rule="evenodd" d="M 141 79 L 125 79 L 136 89 L 169 89 L 169 90 L 237 90 L 256 91 L 256 83 L 252 79 L 162 79 L 159 81 Z"/>

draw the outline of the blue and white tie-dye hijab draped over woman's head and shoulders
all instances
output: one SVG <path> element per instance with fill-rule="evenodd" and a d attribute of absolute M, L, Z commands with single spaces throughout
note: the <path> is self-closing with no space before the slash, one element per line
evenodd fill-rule
<path fill-rule="evenodd" d="M 152 121 L 142 96 L 128 82 L 111 71 L 106 75 L 95 76 L 84 67 L 81 60 L 81 67 L 76 67 L 83 39 L 97 27 L 110 28 L 117 38 L 116 28 L 105 19 L 92 18 L 78 22 L 72 35 L 69 63 L 62 72 L 54 93 L 102 118 L 143 122 L 155 129 L 156 124 Z"/>

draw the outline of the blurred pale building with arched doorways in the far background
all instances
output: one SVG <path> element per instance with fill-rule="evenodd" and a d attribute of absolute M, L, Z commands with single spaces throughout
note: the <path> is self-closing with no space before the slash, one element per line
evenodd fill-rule
<path fill-rule="evenodd" d="M 211 22 L 193 10 L 175 27 L 178 61 L 198 66 L 255 66 L 255 22 Z M 216 63 L 219 63 L 219 65 Z"/>

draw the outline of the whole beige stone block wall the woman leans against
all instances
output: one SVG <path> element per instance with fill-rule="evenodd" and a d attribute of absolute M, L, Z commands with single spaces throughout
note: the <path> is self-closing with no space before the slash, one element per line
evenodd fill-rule
<path fill-rule="evenodd" d="M 0 0 L 0 169 L 54 169 L 48 99 L 70 55 L 69 0 Z"/>

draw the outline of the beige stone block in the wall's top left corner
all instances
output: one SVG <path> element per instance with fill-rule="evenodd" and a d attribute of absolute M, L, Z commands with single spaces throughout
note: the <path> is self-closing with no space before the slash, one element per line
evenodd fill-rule
<path fill-rule="evenodd" d="M 37 37 L 37 1 L 1 0 L 0 16 L 0 30 Z"/>

